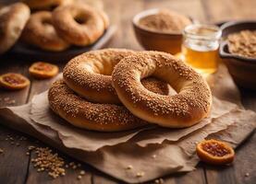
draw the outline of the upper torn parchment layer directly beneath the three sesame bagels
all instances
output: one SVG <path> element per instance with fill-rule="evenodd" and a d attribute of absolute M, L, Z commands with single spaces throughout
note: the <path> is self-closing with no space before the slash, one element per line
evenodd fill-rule
<path fill-rule="evenodd" d="M 149 126 L 128 132 L 91 132 L 75 128 L 56 116 L 55 113 L 49 109 L 46 91 L 32 98 L 30 119 L 39 125 L 48 126 L 58 132 L 63 144 L 67 147 L 78 148 L 84 151 L 96 151 L 106 145 L 125 143 L 136 135 L 138 140 L 140 139 L 140 141 L 137 142 L 140 146 L 161 144 L 165 140 L 177 141 L 190 132 L 194 132 L 213 122 L 232 109 L 238 109 L 238 106 L 218 98 L 213 98 L 211 116 L 187 129 L 174 130 Z M 147 129 L 148 131 L 146 131 Z"/>

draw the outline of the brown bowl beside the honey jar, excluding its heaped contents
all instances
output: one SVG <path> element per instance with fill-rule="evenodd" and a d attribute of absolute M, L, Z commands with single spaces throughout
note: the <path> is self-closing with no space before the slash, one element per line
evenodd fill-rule
<path fill-rule="evenodd" d="M 181 52 L 182 32 L 158 32 L 149 29 L 143 29 L 139 25 L 140 18 L 154 15 L 159 12 L 159 9 L 149 9 L 140 12 L 133 17 L 132 24 L 137 40 L 140 45 L 150 51 L 169 52 L 176 54 Z"/>

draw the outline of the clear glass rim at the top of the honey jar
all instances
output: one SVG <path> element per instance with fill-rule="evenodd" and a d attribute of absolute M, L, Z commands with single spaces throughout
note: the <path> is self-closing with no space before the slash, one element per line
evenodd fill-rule
<path fill-rule="evenodd" d="M 183 30 L 183 35 L 194 40 L 219 40 L 222 30 L 214 25 L 191 24 Z"/>

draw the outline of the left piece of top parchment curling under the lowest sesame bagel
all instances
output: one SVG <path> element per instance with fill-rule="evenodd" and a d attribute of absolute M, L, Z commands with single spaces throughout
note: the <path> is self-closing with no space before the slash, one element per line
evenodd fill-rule
<path fill-rule="evenodd" d="M 30 119 L 39 125 L 48 126 L 58 132 L 63 143 L 68 147 L 79 148 L 85 151 L 96 151 L 105 145 L 127 142 L 135 134 L 154 127 L 147 126 L 126 132 L 93 132 L 82 130 L 59 118 L 49 109 L 47 93 L 48 91 L 32 98 Z"/>

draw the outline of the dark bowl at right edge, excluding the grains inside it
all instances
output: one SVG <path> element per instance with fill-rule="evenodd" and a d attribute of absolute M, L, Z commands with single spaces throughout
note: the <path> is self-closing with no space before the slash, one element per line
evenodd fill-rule
<path fill-rule="evenodd" d="M 232 21 L 221 26 L 223 40 L 219 54 L 238 86 L 256 90 L 256 59 L 228 52 L 226 37 L 231 33 L 249 29 L 256 30 L 256 21 Z"/>

